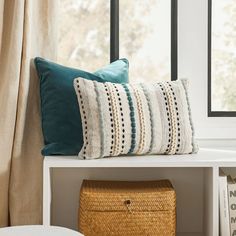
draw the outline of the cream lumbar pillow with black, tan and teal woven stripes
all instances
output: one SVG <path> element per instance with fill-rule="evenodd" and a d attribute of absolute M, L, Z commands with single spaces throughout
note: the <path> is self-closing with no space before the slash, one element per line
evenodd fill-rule
<path fill-rule="evenodd" d="M 80 158 L 197 151 L 187 81 L 153 84 L 74 80 L 82 117 Z"/>

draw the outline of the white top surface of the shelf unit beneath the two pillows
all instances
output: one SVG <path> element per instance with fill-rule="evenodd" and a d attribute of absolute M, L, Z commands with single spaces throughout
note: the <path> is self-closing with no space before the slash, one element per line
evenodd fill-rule
<path fill-rule="evenodd" d="M 80 160 L 77 156 L 45 156 L 45 167 L 236 167 L 236 150 L 201 148 L 197 154 L 119 156 Z"/>

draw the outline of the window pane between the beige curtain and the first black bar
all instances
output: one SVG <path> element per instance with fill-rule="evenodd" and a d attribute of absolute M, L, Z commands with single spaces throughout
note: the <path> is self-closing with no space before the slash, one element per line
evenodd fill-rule
<path fill-rule="evenodd" d="M 110 1 L 60 0 L 61 64 L 95 71 L 110 61 Z"/>

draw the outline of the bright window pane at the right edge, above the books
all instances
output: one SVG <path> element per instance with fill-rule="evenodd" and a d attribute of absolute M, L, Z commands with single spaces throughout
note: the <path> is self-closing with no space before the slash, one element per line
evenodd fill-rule
<path fill-rule="evenodd" d="M 236 1 L 212 1 L 212 111 L 236 111 Z"/>

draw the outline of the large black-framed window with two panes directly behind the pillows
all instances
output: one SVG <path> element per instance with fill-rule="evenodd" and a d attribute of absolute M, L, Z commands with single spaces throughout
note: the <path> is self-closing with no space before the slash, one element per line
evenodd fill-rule
<path fill-rule="evenodd" d="M 177 0 L 60 0 L 59 63 L 94 71 L 122 57 L 131 81 L 177 78 Z"/>

